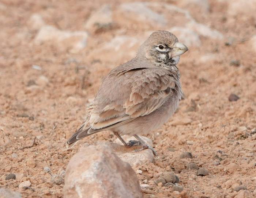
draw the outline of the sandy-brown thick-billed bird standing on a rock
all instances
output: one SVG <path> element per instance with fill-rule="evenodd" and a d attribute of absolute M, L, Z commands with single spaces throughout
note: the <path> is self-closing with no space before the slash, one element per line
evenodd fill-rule
<path fill-rule="evenodd" d="M 166 123 L 183 97 L 180 55 L 188 47 L 169 31 L 153 32 L 139 47 L 136 57 L 112 69 L 103 79 L 94 100 L 87 106 L 82 126 L 65 143 L 72 148 L 78 140 L 101 131 L 112 131 L 125 145 L 152 150 L 139 135 Z M 126 142 L 122 135 L 137 140 Z"/>

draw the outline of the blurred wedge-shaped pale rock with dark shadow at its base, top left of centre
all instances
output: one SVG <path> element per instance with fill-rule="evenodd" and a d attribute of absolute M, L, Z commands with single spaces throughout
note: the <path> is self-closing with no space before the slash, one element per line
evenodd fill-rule
<path fill-rule="evenodd" d="M 103 5 L 97 11 L 93 12 L 87 20 L 85 27 L 89 30 L 93 29 L 96 25 L 106 26 L 113 23 L 112 8 L 109 4 Z"/>

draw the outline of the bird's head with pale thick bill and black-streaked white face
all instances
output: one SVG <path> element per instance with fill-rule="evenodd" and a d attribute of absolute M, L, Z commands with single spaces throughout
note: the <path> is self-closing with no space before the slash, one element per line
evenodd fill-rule
<path fill-rule="evenodd" d="M 156 31 L 140 46 L 138 56 L 145 57 L 158 66 L 176 65 L 180 55 L 186 51 L 188 47 L 178 42 L 174 34 Z"/>

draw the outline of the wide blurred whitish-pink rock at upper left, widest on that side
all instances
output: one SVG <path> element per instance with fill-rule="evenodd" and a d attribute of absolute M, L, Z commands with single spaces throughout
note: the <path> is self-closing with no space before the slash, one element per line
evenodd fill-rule
<path fill-rule="evenodd" d="M 59 30 L 53 26 L 43 26 L 35 36 L 35 43 L 42 44 L 45 42 L 57 42 L 60 47 L 65 50 L 71 49 L 71 52 L 76 53 L 86 47 L 88 34 L 85 31 L 67 31 Z"/>

